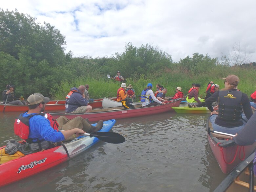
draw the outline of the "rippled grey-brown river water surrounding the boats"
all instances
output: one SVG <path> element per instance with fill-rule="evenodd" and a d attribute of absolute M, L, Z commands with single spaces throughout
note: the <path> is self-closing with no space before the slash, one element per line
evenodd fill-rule
<path fill-rule="evenodd" d="M 19 113 L 1 113 L 0 143 L 17 138 Z M 206 192 L 226 177 L 207 140 L 209 114 L 169 112 L 117 119 L 121 144 L 98 142 L 88 151 L 0 191 L 37 192 Z M 113 117 L 114 119 L 115 117 Z"/>

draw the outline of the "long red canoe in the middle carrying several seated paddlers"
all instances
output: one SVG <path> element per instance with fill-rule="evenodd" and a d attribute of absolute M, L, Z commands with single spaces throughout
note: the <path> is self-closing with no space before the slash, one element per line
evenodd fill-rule
<path fill-rule="evenodd" d="M 73 114 L 73 113 L 50 113 L 53 118 L 60 116 L 66 116 L 69 119 L 75 117 L 88 118 L 89 121 L 108 120 L 108 119 L 120 119 L 129 117 L 139 117 L 153 114 L 160 114 L 167 111 L 173 111 L 172 107 L 180 105 L 181 99 L 167 101 L 165 105 L 159 104 L 150 107 L 141 107 L 141 105 L 135 105 L 133 109 L 124 109 L 123 107 L 109 107 L 101 109 L 93 109 L 91 113 Z"/>

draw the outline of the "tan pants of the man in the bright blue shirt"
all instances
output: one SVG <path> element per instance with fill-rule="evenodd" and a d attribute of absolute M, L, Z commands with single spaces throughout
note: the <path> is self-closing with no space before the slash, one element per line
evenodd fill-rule
<path fill-rule="evenodd" d="M 91 129 L 91 124 L 89 124 L 84 118 L 82 117 L 75 117 L 73 119 L 68 119 L 65 116 L 60 116 L 56 119 L 56 121 L 59 124 L 58 129 L 60 130 L 71 130 L 74 128 L 79 128 L 84 130 L 85 132 L 89 132 Z M 72 140 L 76 137 L 76 135 L 74 134 L 73 136 L 70 136 L 67 140 Z"/>

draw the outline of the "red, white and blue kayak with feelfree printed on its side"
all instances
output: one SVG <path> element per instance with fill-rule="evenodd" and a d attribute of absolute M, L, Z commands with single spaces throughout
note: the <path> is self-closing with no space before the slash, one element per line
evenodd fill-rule
<path fill-rule="evenodd" d="M 115 122 L 115 119 L 104 121 L 103 128 L 97 133 L 109 132 Z M 63 146 L 57 146 L 4 162 L 0 164 L 0 187 L 50 169 L 79 155 L 98 141 L 96 137 L 80 136 L 79 139 L 65 143 L 66 150 Z"/>

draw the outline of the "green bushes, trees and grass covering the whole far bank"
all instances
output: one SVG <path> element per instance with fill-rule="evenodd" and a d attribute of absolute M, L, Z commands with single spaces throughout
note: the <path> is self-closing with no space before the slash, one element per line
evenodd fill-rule
<path fill-rule="evenodd" d="M 12 82 L 15 95 L 27 98 L 41 93 L 52 99 L 64 100 L 70 88 L 89 84 L 90 98 L 114 97 L 120 82 L 107 78 L 117 71 L 131 84 L 138 96 L 148 83 L 167 88 L 173 96 L 179 86 L 186 95 L 192 83 L 199 83 L 199 95 L 205 96 L 208 82 L 224 88 L 222 78 L 234 74 L 240 78 L 238 89 L 250 96 L 255 90 L 256 63 L 231 66 L 226 56 L 211 58 L 194 53 L 173 62 L 170 53 L 149 44 L 135 47 L 127 43 L 123 53 L 105 57 L 73 57 L 65 53 L 65 36 L 50 23 L 39 25 L 28 14 L 0 9 L 0 87 Z"/>

